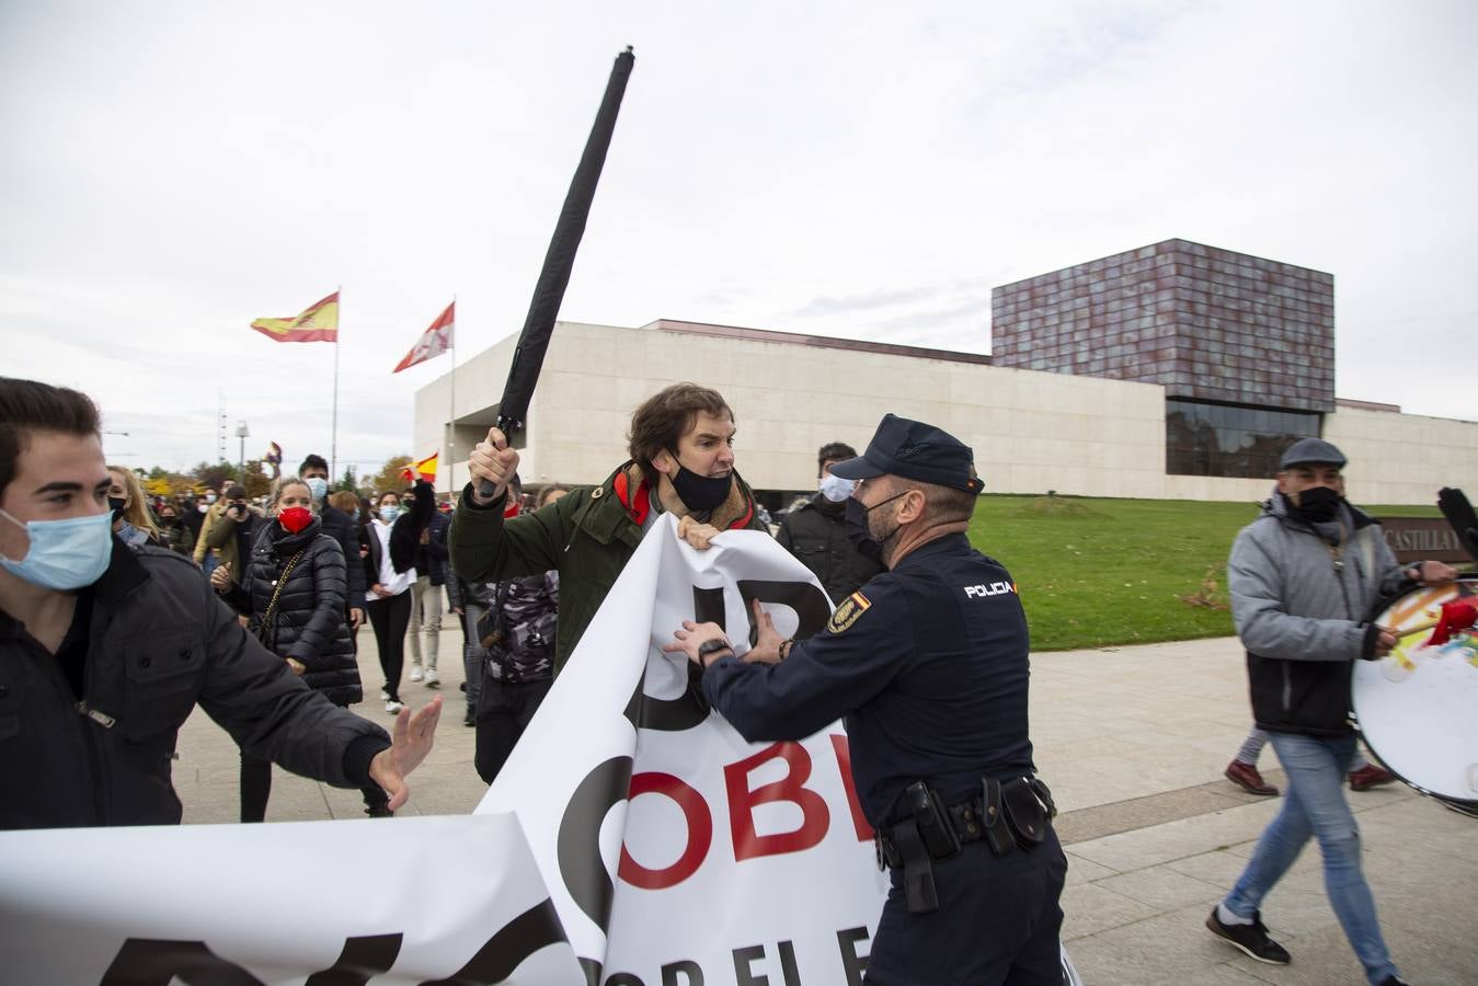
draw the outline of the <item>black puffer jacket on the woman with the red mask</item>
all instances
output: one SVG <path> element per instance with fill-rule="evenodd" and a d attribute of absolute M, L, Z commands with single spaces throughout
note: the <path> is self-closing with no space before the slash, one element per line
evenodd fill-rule
<path fill-rule="evenodd" d="M 344 553 L 324 534 L 318 517 L 297 534 L 288 534 L 276 520 L 263 523 L 241 588 L 229 600 L 251 616 L 248 628 L 259 633 L 282 569 L 299 551 L 302 557 L 282 584 L 263 643 L 276 655 L 302 661 L 307 667 L 303 680 L 330 702 L 350 705 L 364 699 L 364 689 L 344 621 Z"/>

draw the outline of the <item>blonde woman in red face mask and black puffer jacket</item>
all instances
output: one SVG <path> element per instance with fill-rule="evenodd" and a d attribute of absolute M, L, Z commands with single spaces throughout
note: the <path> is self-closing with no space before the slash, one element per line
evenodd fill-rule
<path fill-rule="evenodd" d="M 303 676 L 309 687 L 334 705 L 358 702 L 364 689 L 344 621 L 349 591 L 344 551 L 333 535 L 322 532 L 313 494 L 297 476 L 284 476 L 272 485 L 268 511 L 239 587 L 232 587 L 226 566 L 211 572 L 211 585 L 248 616 L 247 628 L 268 650 L 282 656 L 290 673 Z M 270 761 L 242 748 L 242 822 L 263 820 L 270 791 Z M 364 788 L 364 795 L 368 815 L 390 815 L 384 791 Z"/>

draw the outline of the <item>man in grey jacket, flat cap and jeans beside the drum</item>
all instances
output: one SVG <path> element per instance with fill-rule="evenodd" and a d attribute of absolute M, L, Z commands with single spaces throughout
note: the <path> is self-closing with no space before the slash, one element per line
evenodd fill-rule
<path fill-rule="evenodd" d="M 1345 501 L 1344 466 L 1344 454 L 1323 439 L 1295 442 L 1262 516 L 1231 547 L 1227 587 L 1247 647 L 1252 713 L 1271 735 L 1289 792 L 1206 927 L 1261 962 L 1286 965 L 1289 953 L 1268 937 L 1259 905 L 1314 835 L 1329 902 L 1366 977 L 1400 986 L 1342 786 L 1355 754 L 1349 677 L 1354 661 L 1382 658 L 1397 643 L 1372 621 L 1380 599 L 1457 572 L 1441 562 L 1401 568 L 1380 525 Z"/>

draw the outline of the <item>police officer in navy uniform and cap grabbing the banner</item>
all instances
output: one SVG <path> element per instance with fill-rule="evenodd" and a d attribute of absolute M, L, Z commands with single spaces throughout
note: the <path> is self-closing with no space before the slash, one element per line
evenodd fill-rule
<path fill-rule="evenodd" d="M 702 664 L 708 699 L 745 739 L 800 739 L 845 715 L 851 769 L 891 890 L 868 982 L 1063 982 L 1067 860 L 1027 738 L 1027 627 L 1015 584 L 965 529 L 983 483 L 952 435 L 884 415 L 832 467 L 857 547 L 888 571 L 823 633 L 780 640 L 755 606 L 740 659 L 717 624 L 670 652 Z"/>

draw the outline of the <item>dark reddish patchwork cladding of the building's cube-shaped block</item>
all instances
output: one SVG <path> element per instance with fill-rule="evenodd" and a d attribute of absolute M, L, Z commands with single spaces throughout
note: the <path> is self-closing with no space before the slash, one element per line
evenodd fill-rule
<path fill-rule="evenodd" d="M 1166 239 L 995 288 L 992 362 L 1335 409 L 1335 276 Z"/>

